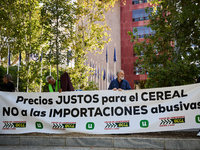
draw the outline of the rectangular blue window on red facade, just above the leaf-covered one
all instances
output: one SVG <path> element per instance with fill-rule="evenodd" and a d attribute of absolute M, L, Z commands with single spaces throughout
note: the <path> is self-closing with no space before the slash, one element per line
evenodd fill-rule
<path fill-rule="evenodd" d="M 152 12 L 152 11 L 150 11 Z M 145 9 L 137 9 L 132 11 L 133 16 L 133 22 L 136 21 L 143 21 L 143 20 L 149 20 L 149 13 L 145 12 Z"/>

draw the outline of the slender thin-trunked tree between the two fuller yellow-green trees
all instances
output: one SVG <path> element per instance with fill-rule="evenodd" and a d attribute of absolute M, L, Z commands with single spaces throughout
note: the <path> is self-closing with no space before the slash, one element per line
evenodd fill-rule
<path fill-rule="evenodd" d="M 75 20 L 74 5 L 71 0 L 42 0 L 42 26 L 44 37 L 48 39 L 51 64 L 57 66 L 59 79 L 59 64 L 66 62 L 70 51 L 71 33 Z M 49 33 L 49 34 L 48 34 Z"/>

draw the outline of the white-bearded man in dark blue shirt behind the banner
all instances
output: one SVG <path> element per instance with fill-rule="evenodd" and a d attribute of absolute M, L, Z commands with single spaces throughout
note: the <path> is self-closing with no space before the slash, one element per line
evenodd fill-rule
<path fill-rule="evenodd" d="M 124 71 L 119 70 L 117 71 L 116 75 L 117 78 L 111 81 L 108 90 L 114 90 L 114 91 L 131 90 L 128 81 L 124 79 Z"/>

